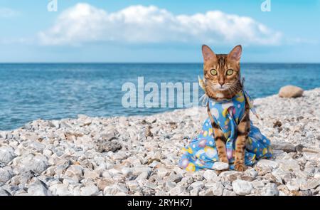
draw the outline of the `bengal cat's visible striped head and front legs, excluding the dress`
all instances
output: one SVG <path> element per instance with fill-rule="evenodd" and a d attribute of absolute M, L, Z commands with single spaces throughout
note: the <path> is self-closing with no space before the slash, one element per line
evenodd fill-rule
<path fill-rule="evenodd" d="M 235 46 L 230 53 L 215 54 L 208 46 L 202 46 L 203 53 L 203 73 L 206 79 L 205 91 L 209 98 L 214 100 L 225 100 L 233 98 L 240 90 L 242 84 L 240 82 L 240 57 L 242 47 Z M 218 151 L 220 161 L 228 163 L 227 152 L 225 149 L 225 136 L 220 130 L 219 126 L 215 124 L 210 115 L 210 108 L 208 114 L 213 127 L 213 137 Z M 245 145 L 248 134 L 250 132 L 250 107 L 245 103 L 245 114 L 240 120 L 237 132 L 238 137 L 235 142 L 235 170 L 243 172 L 245 166 Z"/>

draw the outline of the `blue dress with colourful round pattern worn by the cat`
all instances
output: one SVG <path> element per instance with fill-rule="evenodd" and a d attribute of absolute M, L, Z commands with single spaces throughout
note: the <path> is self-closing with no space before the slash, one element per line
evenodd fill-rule
<path fill-rule="evenodd" d="M 246 100 L 252 112 L 255 113 L 252 99 L 245 91 L 240 91 L 230 100 L 217 102 L 208 98 L 206 102 L 209 104 L 213 120 L 223 131 L 227 140 L 225 145 L 230 169 L 234 169 L 237 125 L 244 115 Z M 209 117 L 203 122 L 203 127 L 198 137 L 192 140 L 188 147 L 184 147 L 182 152 L 183 154 L 178 165 L 189 172 L 199 169 L 212 169 L 213 164 L 219 161 L 213 138 L 213 127 Z M 250 122 L 250 133 L 245 146 L 245 164 L 252 166 L 257 159 L 270 157 L 272 157 L 270 140 L 262 135 L 260 130 Z"/>

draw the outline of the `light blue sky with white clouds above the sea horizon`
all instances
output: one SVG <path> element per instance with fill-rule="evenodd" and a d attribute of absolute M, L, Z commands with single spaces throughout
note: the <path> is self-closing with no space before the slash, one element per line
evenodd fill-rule
<path fill-rule="evenodd" d="M 0 63 L 202 62 L 202 44 L 241 44 L 242 62 L 320 63 L 320 0 L 264 2 L 0 0 Z"/>

